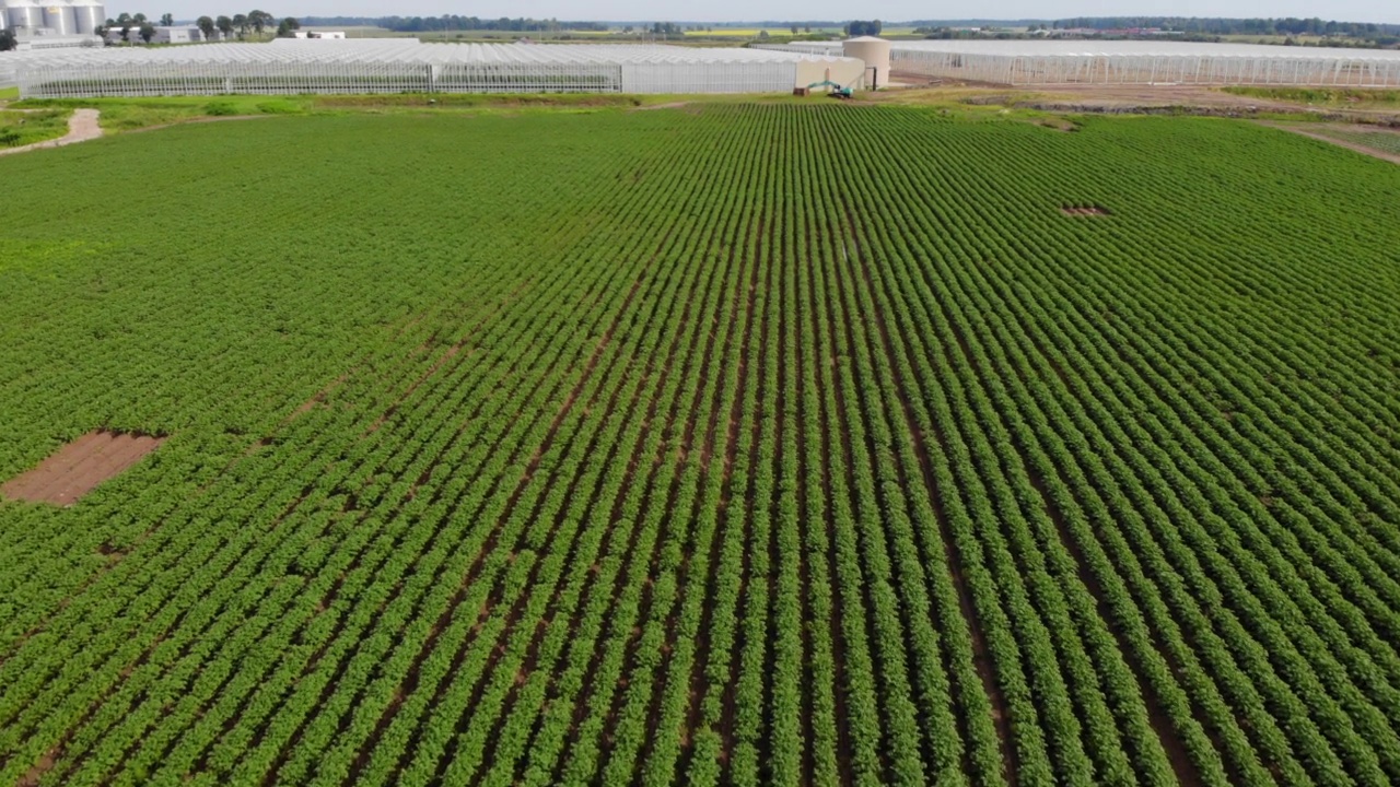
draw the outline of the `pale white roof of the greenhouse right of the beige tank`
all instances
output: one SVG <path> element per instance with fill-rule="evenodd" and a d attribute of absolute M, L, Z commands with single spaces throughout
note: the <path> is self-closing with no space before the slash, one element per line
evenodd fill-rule
<path fill-rule="evenodd" d="M 791 49 L 840 52 L 840 42 L 792 42 Z M 955 52 L 1043 57 L 1053 55 L 1099 56 L 1183 56 L 1183 57 L 1284 57 L 1289 60 L 1400 60 L 1400 49 L 1341 49 L 1326 46 L 1270 46 L 1263 43 L 1207 43 L 1187 41 L 890 41 L 895 50 Z M 790 49 L 790 50 L 791 50 Z"/>

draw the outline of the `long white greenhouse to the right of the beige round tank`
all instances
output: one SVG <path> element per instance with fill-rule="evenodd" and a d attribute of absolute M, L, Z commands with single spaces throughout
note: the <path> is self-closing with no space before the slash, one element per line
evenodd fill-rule
<path fill-rule="evenodd" d="M 981 83 L 1400 87 L 1400 52 L 1180 41 L 896 41 L 895 71 Z M 784 52 L 840 53 L 840 43 Z"/>

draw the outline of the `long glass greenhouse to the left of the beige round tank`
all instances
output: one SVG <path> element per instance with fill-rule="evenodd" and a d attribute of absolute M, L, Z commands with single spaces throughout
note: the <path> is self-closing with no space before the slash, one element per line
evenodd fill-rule
<path fill-rule="evenodd" d="M 27 98 L 298 92 L 771 92 L 847 63 L 818 52 L 416 39 L 0 56 Z"/>

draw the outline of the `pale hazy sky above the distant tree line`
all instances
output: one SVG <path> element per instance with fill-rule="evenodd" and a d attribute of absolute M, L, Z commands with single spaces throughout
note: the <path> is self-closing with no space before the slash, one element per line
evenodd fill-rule
<path fill-rule="evenodd" d="M 242 8 L 241 6 L 249 6 Z M 440 15 L 556 17 L 560 20 L 846 20 L 853 15 L 882 20 L 916 18 L 1060 18 L 1113 15 L 1173 17 L 1322 17 L 1324 20 L 1400 24 L 1394 0 L 987 0 L 983 3 L 927 3 L 888 0 L 108 0 L 108 15 L 143 11 L 172 13 L 181 18 L 200 14 L 246 13 L 260 8 L 286 17 L 307 15 Z"/>

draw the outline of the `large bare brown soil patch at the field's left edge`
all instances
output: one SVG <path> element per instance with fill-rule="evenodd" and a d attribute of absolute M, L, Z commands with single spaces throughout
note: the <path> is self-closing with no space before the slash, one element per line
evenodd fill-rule
<path fill-rule="evenodd" d="M 90 431 L 69 443 L 38 468 L 0 486 L 0 494 L 28 503 L 73 506 L 102 482 L 115 478 L 165 443 L 165 437 Z"/>

